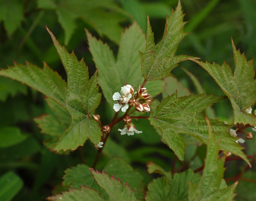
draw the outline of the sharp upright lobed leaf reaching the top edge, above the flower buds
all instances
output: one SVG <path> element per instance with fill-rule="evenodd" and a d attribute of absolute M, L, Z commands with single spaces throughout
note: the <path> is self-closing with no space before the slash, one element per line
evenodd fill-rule
<path fill-rule="evenodd" d="M 186 22 L 183 22 L 184 14 L 181 8 L 179 1 L 176 10 L 166 18 L 163 38 L 156 45 L 148 16 L 146 51 L 140 52 L 141 70 L 147 81 L 162 80 L 165 77 L 173 76 L 170 72 L 178 66 L 179 62 L 189 58 L 197 59 L 187 55 L 175 56 L 178 44 L 188 34 L 183 31 Z"/>

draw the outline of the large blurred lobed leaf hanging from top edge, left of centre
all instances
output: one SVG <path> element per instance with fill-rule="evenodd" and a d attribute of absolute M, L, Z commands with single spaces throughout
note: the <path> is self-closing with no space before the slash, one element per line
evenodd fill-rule
<path fill-rule="evenodd" d="M 83 20 L 94 28 L 100 36 L 107 36 L 119 43 L 120 32 L 123 30 L 120 22 L 125 18 L 123 10 L 112 0 L 66 1 L 66 0 L 38 0 L 38 8 L 54 9 L 58 21 L 64 29 L 64 44 L 67 45 L 75 31 L 77 20 Z"/>

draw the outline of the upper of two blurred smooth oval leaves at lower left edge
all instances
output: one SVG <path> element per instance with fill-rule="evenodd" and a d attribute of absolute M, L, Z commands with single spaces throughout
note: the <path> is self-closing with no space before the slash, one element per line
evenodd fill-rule
<path fill-rule="evenodd" d="M 0 128 L 0 148 L 10 147 L 23 142 L 27 135 L 21 134 L 20 129 L 16 127 Z"/>

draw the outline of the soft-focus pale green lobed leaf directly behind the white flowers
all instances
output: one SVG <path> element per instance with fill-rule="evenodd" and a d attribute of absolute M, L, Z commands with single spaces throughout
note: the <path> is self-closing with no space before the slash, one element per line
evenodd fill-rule
<path fill-rule="evenodd" d="M 139 25 L 134 22 L 121 35 L 115 60 L 107 44 L 92 37 L 88 31 L 86 35 L 90 52 L 99 71 L 99 84 L 107 102 L 113 107 L 112 96 L 115 92 L 120 92 L 125 82 L 133 84 L 134 87 L 143 82 L 138 50 L 145 48 L 145 36 Z"/>

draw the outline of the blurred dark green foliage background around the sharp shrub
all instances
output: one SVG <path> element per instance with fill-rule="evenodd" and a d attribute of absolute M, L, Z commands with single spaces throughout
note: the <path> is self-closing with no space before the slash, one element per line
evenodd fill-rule
<path fill-rule="evenodd" d="M 255 57 L 256 1 L 181 0 L 181 3 L 186 14 L 184 21 L 188 21 L 184 31 L 191 34 L 182 40 L 177 54 L 197 56 L 202 61 L 219 64 L 226 61 L 234 69 L 232 36 L 236 48 L 245 52 L 247 60 Z M 28 61 L 42 67 L 46 62 L 66 79 L 47 26 L 69 52 L 74 50 L 78 60 L 84 58 L 92 75 L 96 68 L 88 50 L 84 28 L 106 42 L 116 53 L 121 31 L 134 20 L 146 33 L 148 14 L 157 43 L 163 35 L 166 15 L 170 16 L 177 4 L 177 0 L 0 0 L 0 67 L 12 66 L 14 61 L 21 64 Z M 187 61 L 172 73 L 191 93 L 196 94 L 196 88 L 181 66 L 198 78 L 206 94 L 224 95 L 207 72 Z M 158 98 L 161 100 L 161 96 Z M 233 112 L 228 100 L 216 103 L 213 109 L 216 118 L 232 124 Z M 2 193 L 10 193 L 5 194 L 6 200 L 44 200 L 67 189 L 61 186 L 64 170 L 81 163 L 80 153 L 74 151 L 69 155 L 58 155 L 43 145 L 47 136 L 40 133 L 33 118 L 50 112 L 44 96 L 21 83 L 0 77 L 0 112 L 0 186 L 4 184 L 1 183 L 3 177 L 11 178 L 13 182 L 11 191 L 2 190 Z M 103 125 L 108 124 L 113 115 L 104 98 L 96 113 L 101 115 Z M 107 142 L 109 146 L 106 145 L 97 169 L 101 170 L 110 158 L 121 157 L 144 176 L 144 188 L 155 176 L 147 174 L 146 162 L 154 161 L 171 170 L 174 154 L 160 142 L 160 136 L 148 124 L 145 121 L 136 123 L 137 128 L 144 128 L 147 139 L 111 132 L 111 139 Z M 196 145 L 189 137 L 186 140 L 191 142 L 191 146 L 188 147 L 186 161 L 177 163 L 177 170 L 187 167 L 196 169 L 203 164 L 206 147 Z M 247 140 L 244 146 L 247 147 L 247 155 L 254 154 L 254 140 Z M 94 145 L 86 142 L 83 153 L 86 164 L 91 166 L 96 155 Z M 188 166 L 184 167 L 185 164 Z M 225 176 L 233 177 L 246 164 L 230 161 L 226 166 Z M 255 168 L 247 171 L 244 177 L 256 180 L 253 170 Z M 256 198 L 254 182 L 240 183 L 235 200 Z"/>

